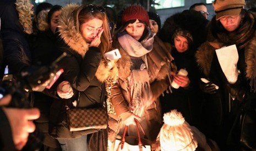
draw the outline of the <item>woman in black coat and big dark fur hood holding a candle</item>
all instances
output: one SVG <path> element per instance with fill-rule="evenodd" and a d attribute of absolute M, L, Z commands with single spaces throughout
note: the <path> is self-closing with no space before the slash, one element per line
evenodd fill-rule
<path fill-rule="evenodd" d="M 199 89 L 199 69 L 195 61 L 195 51 L 206 38 L 208 21 L 197 11 L 184 10 L 170 16 L 160 31 L 160 38 L 170 48 L 177 70 L 186 69 L 187 76 L 176 75 L 173 80 L 178 89 L 164 93 L 160 97 L 162 112 L 177 109 L 190 125 L 198 126 L 203 95 Z"/>

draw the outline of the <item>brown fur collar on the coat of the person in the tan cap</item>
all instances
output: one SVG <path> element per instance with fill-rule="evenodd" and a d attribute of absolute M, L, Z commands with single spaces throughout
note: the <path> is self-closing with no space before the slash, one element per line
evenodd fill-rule
<path fill-rule="evenodd" d="M 211 62 L 213 61 L 213 56 L 215 53 L 215 49 L 219 49 L 223 47 L 222 44 L 205 42 L 198 49 L 195 54 L 197 58 L 197 63 L 203 73 L 208 76 L 210 73 Z M 256 65 L 256 32 L 253 34 L 253 38 L 250 40 L 248 45 L 245 47 L 245 57 L 246 57 L 246 77 L 252 78 L 254 66 Z"/>

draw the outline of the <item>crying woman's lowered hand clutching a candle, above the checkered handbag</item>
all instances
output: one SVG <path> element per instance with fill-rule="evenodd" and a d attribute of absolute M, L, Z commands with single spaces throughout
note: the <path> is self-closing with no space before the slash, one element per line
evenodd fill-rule
<path fill-rule="evenodd" d="M 72 86 L 69 82 L 64 81 L 57 86 L 57 94 L 61 98 L 71 98 L 74 95 Z"/>

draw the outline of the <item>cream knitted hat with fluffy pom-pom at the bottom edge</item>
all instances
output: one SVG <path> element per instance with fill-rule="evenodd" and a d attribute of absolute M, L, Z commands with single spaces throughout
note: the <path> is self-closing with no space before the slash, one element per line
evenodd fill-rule
<path fill-rule="evenodd" d="M 160 146 L 162 151 L 166 150 L 195 150 L 198 146 L 197 140 L 189 124 L 180 112 L 173 109 L 164 114 L 164 125 L 160 130 Z"/>

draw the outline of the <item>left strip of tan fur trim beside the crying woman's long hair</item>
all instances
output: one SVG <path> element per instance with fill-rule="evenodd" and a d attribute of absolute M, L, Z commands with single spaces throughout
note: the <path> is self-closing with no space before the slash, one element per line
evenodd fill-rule
<path fill-rule="evenodd" d="M 66 44 L 74 51 L 84 57 L 86 51 L 89 49 L 89 44 L 85 42 L 80 32 L 75 27 L 76 20 L 74 18 L 74 11 L 78 9 L 78 4 L 67 4 L 62 9 L 59 16 L 59 35 Z"/>

